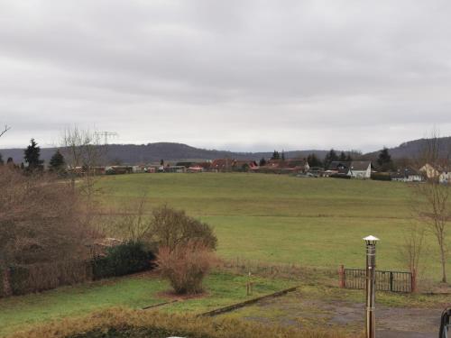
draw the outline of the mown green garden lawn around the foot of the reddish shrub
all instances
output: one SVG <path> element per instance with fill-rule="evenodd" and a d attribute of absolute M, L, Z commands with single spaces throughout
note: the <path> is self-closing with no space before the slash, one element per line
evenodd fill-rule
<path fill-rule="evenodd" d="M 266 295 L 294 286 L 293 281 L 283 279 L 254 279 L 253 297 Z M 246 277 L 216 272 L 205 281 L 207 294 L 194 297 L 159 310 L 169 312 L 202 313 L 216 307 L 231 305 L 248 299 Z M 20 297 L 0 299 L 0 336 L 25 329 L 27 326 L 51 319 L 87 315 L 94 310 L 112 306 L 142 308 L 171 300 L 164 291 L 170 289 L 167 282 L 154 276 L 133 276 L 107 279 L 75 287 Z"/>

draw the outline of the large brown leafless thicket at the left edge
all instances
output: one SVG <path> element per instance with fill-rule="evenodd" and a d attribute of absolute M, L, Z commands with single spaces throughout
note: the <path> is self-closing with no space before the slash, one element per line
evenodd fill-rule
<path fill-rule="evenodd" d="M 0 168 L 0 265 L 80 259 L 92 238 L 78 195 L 47 175 Z"/>

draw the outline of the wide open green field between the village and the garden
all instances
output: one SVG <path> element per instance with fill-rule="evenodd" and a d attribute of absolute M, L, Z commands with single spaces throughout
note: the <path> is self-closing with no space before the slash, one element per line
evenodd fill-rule
<path fill-rule="evenodd" d="M 290 262 L 309 267 L 364 266 L 362 238 L 373 234 L 379 269 L 403 269 L 399 246 L 411 224 L 410 187 L 399 182 L 295 178 L 264 174 L 136 174 L 100 183 L 106 203 L 146 195 L 214 226 L 226 259 Z M 119 235 L 113 231 L 113 235 Z M 439 278 L 428 235 L 426 275 Z"/>

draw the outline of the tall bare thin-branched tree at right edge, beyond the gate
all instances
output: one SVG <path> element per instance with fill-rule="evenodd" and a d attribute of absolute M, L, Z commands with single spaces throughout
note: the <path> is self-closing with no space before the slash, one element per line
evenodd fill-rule
<path fill-rule="evenodd" d="M 440 141 L 437 132 L 433 132 L 431 137 L 425 142 L 419 165 L 428 163 L 435 169 L 449 170 L 451 161 L 451 150 L 445 143 Z M 451 224 L 451 185 L 442 184 L 438 177 L 426 178 L 426 182 L 412 186 L 415 197 L 413 209 L 419 221 L 425 224 L 437 239 L 438 251 L 440 254 L 440 265 L 442 268 L 442 282 L 447 282 L 446 262 L 448 248 L 446 244 L 448 225 Z"/>

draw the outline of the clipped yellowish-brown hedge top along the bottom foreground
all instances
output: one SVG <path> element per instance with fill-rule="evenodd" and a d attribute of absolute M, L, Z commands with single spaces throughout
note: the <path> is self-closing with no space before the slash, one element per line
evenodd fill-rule
<path fill-rule="evenodd" d="M 189 338 L 361 338 L 336 329 L 297 330 L 232 319 L 168 315 L 115 308 L 82 318 L 43 324 L 10 338 L 113 338 L 181 336 Z"/>

